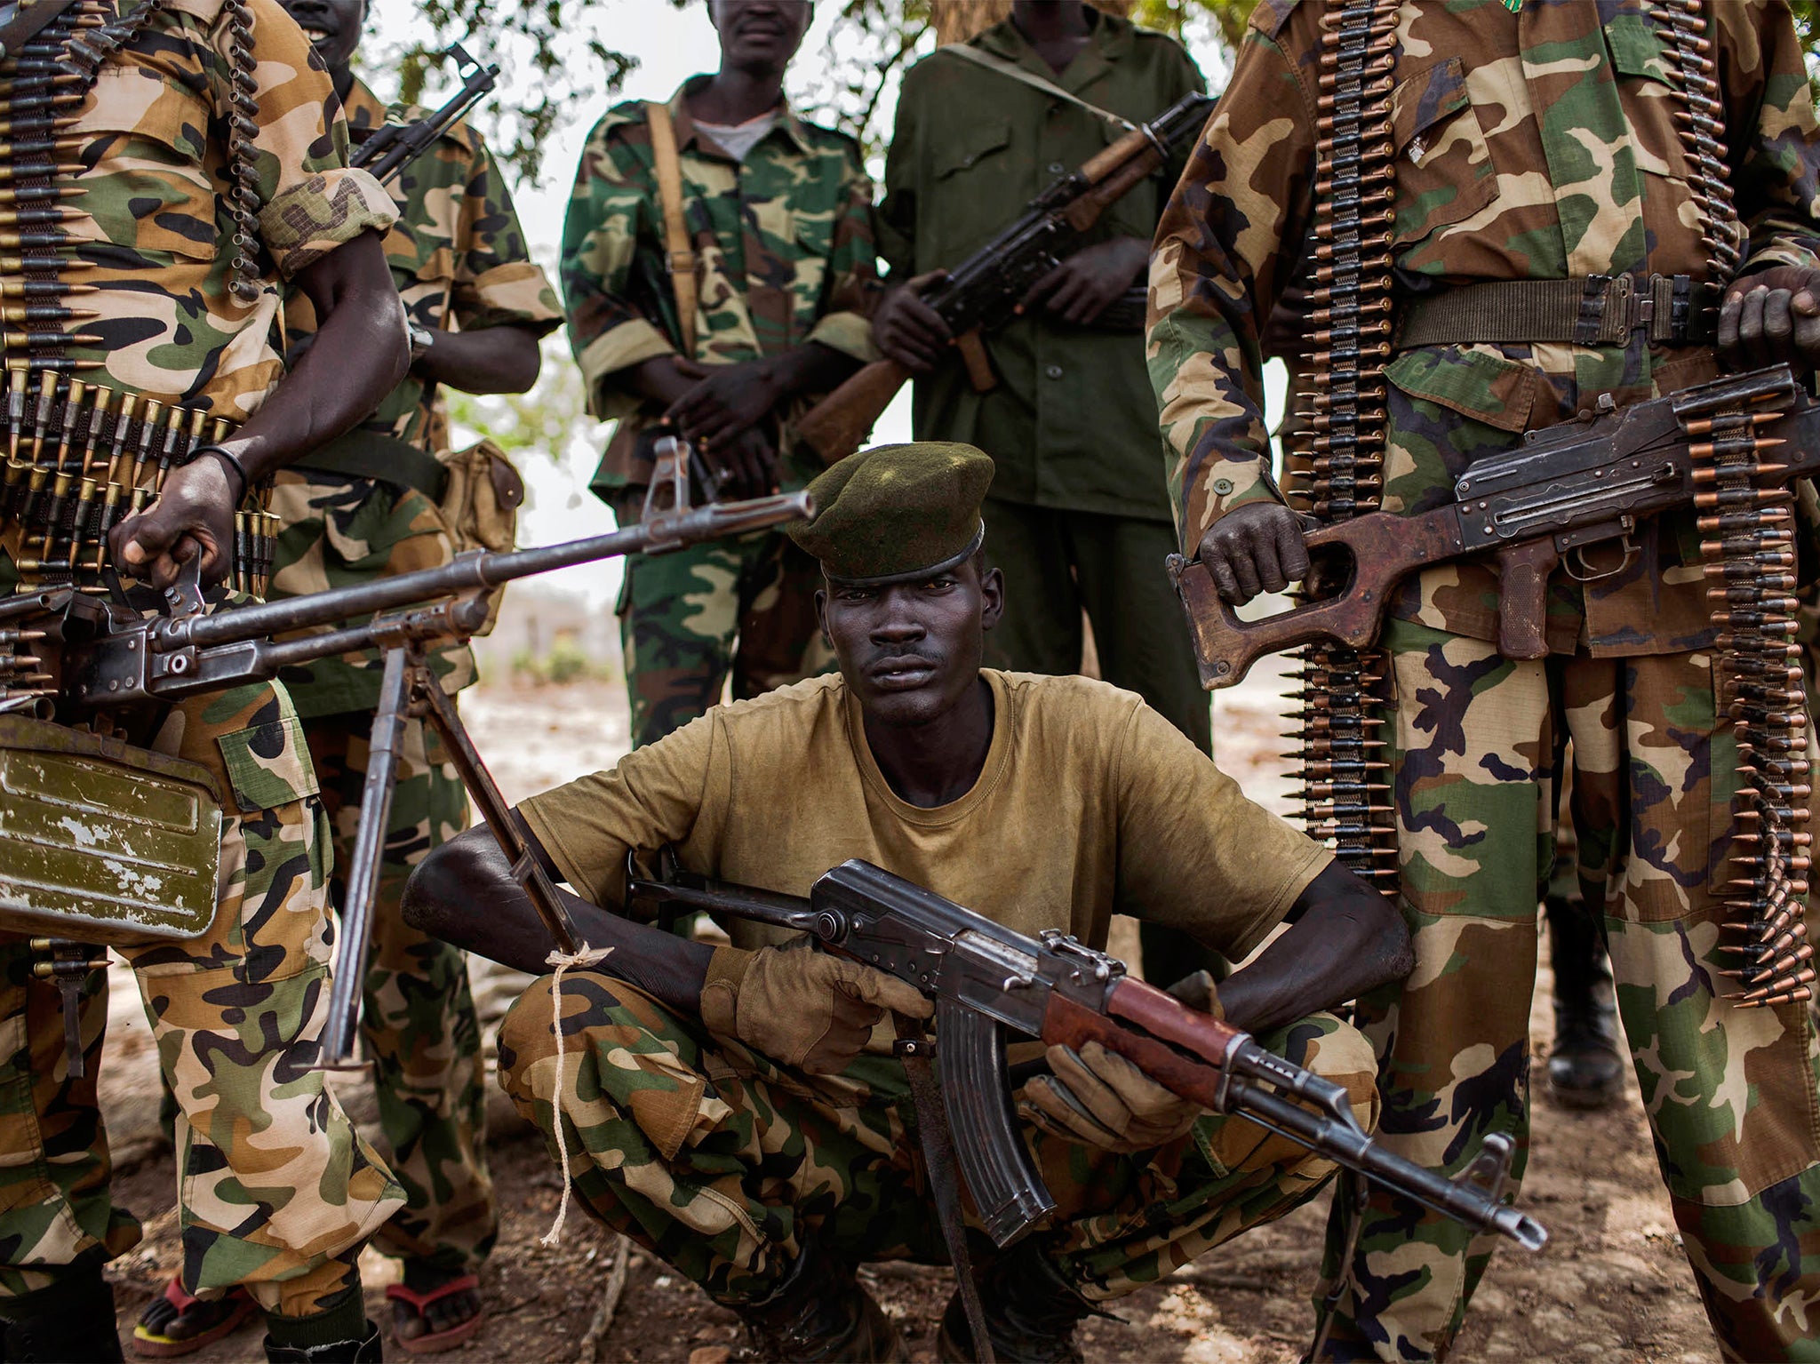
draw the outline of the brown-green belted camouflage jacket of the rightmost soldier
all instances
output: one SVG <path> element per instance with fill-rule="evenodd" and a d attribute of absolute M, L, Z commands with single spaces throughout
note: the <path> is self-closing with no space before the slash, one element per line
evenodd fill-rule
<path fill-rule="evenodd" d="M 1176 187 L 1150 266 L 1150 378 L 1183 542 L 1276 496 L 1259 333 L 1312 211 L 1316 0 L 1252 13 L 1214 118 Z M 1744 271 L 1820 266 L 1820 133 L 1785 0 L 1720 0 L 1709 36 L 1725 98 Z M 1481 280 L 1711 278 L 1674 129 L 1669 40 L 1642 0 L 1405 5 L 1392 85 L 1390 251 L 1398 296 Z M 1704 347 L 1431 346 L 1385 367 L 1385 507 L 1425 511 L 1522 431 L 1718 373 Z M 1594 655 L 1711 642 L 1693 518 L 1645 527 L 1631 564 L 1583 591 L 1556 575 L 1549 642 Z M 1405 584 L 1392 613 L 1496 637 L 1496 578 L 1465 564 Z"/>

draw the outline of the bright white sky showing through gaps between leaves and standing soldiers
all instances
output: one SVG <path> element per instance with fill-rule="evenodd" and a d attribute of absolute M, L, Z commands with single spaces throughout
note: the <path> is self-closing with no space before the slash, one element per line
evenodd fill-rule
<path fill-rule="evenodd" d="M 817 5 L 815 24 L 803 44 L 797 60 L 790 69 L 786 89 L 794 102 L 815 102 L 823 93 L 823 84 L 830 80 L 830 29 L 839 13 L 839 0 L 823 0 Z M 668 98 L 684 78 L 697 71 L 712 71 L 717 65 L 719 47 L 713 25 L 708 24 L 704 4 L 675 9 L 666 0 L 615 0 L 606 7 L 606 42 L 619 51 L 639 58 L 639 69 L 632 73 L 619 95 L 588 100 L 575 111 L 573 122 L 564 127 L 544 149 L 544 169 L 541 184 L 513 186 L 519 218 L 530 238 L 531 253 L 555 278 L 557 247 L 562 236 L 562 213 L 568 204 L 568 191 L 573 180 L 575 162 L 581 158 L 588 129 L 606 113 L 608 105 L 622 98 Z M 371 0 L 368 27 L 379 44 L 386 47 L 402 45 L 420 36 L 424 22 L 415 0 Z M 1190 51 L 1201 62 L 1208 80 L 1218 87 L 1221 82 L 1221 55 L 1210 45 L 1192 40 Z M 531 78 L 530 67 L 513 71 L 510 55 L 500 55 L 506 67 L 500 75 L 500 89 L 510 102 L 511 91 L 526 87 Z M 821 84 L 817 84 L 821 82 Z M 375 80 L 380 96 L 393 96 L 395 89 L 379 78 Z M 435 89 L 431 89 L 435 96 Z M 895 98 L 895 89 L 888 100 Z M 888 113 L 888 107 L 886 107 Z M 482 122 L 484 131 L 484 122 Z M 874 167 L 877 173 L 879 167 Z M 546 347 L 546 373 L 555 364 L 570 364 L 568 347 L 557 333 L 555 344 Z M 1279 366 L 1272 366 L 1279 371 Z M 1269 384 L 1272 411 L 1281 393 L 1281 376 Z M 897 402 L 885 413 L 874 429 L 879 442 L 910 438 L 910 391 L 899 395 Z M 575 431 L 570 449 L 562 451 L 559 462 L 526 462 L 526 478 L 531 496 L 526 513 L 519 518 L 519 544 L 551 544 L 584 535 L 599 535 L 612 529 L 612 515 L 606 506 L 588 491 L 588 476 L 606 444 L 606 427 L 588 422 L 586 429 Z M 1159 456 L 1161 458 L 1161 456 Z M 561 584 L 566 591 L 584 593 L 595 602 L 612 602 L 619 591 L 619 562 L 568 569 L 544 578 L 546 584 Z"/>

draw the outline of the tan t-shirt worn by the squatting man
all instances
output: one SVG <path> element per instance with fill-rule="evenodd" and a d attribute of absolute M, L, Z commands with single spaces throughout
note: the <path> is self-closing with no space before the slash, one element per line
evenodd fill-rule
<path fill-rule="evenodd" d="M 919 809 L 886 784 L 839 677 L 719 706 L 613 771 L 519 811 L 575 891 L 621 906 L 626 851 L 786 895 L 859 857 L 1019 933 L 1105 948 L 1114 913 L 1239 958 L 1330 853 L 1130 691 L 986 669 L 992 747 L 974 789 Z M 730 926 L 743 946 L 766 940 Z"/>

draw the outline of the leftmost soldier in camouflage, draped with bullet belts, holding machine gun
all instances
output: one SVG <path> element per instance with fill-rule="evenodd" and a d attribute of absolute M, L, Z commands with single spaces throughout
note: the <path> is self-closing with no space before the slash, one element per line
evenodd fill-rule
<path fill-rule="evenodd" d="M 71 355 L 98 366 L 82 376 L 107 396 L 238 424 L 213 456 L 173 467 L 160 496 L 113 527 L 124 573 L 164 586 L 178 560 L 200 555 L 211 582 L 231 557 L 237 502 L 302 453 L 302 433 L 359 420 L 404 366 L 379 246 L 393 213 L 371 176 L 348 169 L 329 80 L 275 0 L 124 9 L 129 36 L 76 95 L 66 136 L 78 151 L 60 158 L 76 164 L 58 169 L 78 191 L 64 202 L 82 211 L 62 253 L 87 262 L 78 278 L 95 286 L 82 302 L 96 316 L 80 327 L 93 340 Z M 96 22 L 116 13 L 111 4 L 80 13 L 89 11 Z M 237 142 L 249 144 L 249 160 Z M 249 167 L 235 204 L 217 189 L 231 164 Z M 235 242 L 248 224 L 253 235 Z M 324 335 L 333 333 L 288 380 L 268 344 L 280 282 L 315 296 Z M 0 586 L 42 573 L 29 549 L 5 527 Z M 213 928 L 124 949 L 180 1106 L 177 1291 L 220 1299 L 248 1286 L 268 1313 L 271 1359 L 377 1360 L 357 1257 L 402 1193 L 309 1069 L 326 1017 L 331 851 L 297 711 L 282 686 L 248 684 L 158 715 L 151 735 L 126 718 L 95 724 L 200 764 L 222 793 Z M 96 975 L 84 991 L 86 1069 L 71 1078 L 56 991 L 31 982 L 31 958 L 22 938 L 5 937 L 4 1351 L 120 1359 L 102 1264 L 127 1251 L 140 1226 L 109 1197 L 96 1109 L 106 984 Z"/>

